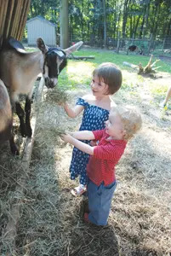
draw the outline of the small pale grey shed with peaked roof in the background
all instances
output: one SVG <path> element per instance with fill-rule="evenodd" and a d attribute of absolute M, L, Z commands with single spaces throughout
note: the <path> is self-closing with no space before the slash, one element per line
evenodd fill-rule
<path fill-rule="evenodd" d="M 28 45 L 36 45 L 37 38 L 43 38 L 48 46 L 56 45 L 56 25 L 42 16 L 37 16 L 27 20 L 27 39 Z"/>

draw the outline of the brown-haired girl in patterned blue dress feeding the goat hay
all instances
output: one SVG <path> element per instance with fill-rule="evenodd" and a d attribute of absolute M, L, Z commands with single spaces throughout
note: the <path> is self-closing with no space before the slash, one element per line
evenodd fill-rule
<path fill-rule="evenodd" d="M 113 95 L 120 89 L 122 84 L 121 70 L 111 62 L 102 63 L 94 69 L 93 79 L 91 81 L 91 95 L 78 98 L 74 108 L 70 108 L 67 103 L 64 109 L 71 118 L 76 118 L 83 111 L 83 120 L 79 131 L 94 131 L 105 128 L 105 121 L 108 119 L 111 108 L 116 104 L 111 100 Z M 90 143 L 90 141 L 83 141 Z M 77 148 L 73 148 L 71 159 L 71 180 L 79 177 L 79 186 L 71 189 L 72 195 L 82 195 L 87 189 L 86 166 L 88 164 L 89 154 L 83 153 Z"/>

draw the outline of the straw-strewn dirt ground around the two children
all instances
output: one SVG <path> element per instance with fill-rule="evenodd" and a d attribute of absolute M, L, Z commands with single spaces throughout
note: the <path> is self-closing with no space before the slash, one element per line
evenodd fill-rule
<path fill-rule="evenodd" d="M 136 106 L 142 114 L 143 128 L 128 143 L 117 165 L 117 190 L 107 226 L 83 222 L 87 198 L 73 197 L 70 192 L 77 184 L 69 176 L 72 147 L 56 135 L 60 128 L 78 130 L 82 115 L 69 119 L 63 108 L 46 102 L 44 97 L 38 108 L 31 166 L 20 200 L 15 249 L 11 250 L 10 241 L 1 239 L 1 255 L 171 255 L 171 110 L 159 108 L 162 99 L 150 90 L 154 84 L 169 86 L 171 79 L 168 75 L 156 80 L 140 79 L 128 71 L 123 71 L 123 78 L 128 89 L 119 90 L 113 99 L 117 104 Z M 89 92 L 83 84 L 71 90 L 71 105 Z M 10 173 L 10 182 L 1 182 L 2 234 L 9 206 L 20 198 L 14 194 L 20 165 L 7 151 L 8 146 L 3 145 L 1 177 L 7 176 L 10 166 L 15 173 Z M 8 164 L 4 163 L 7 158 Z"/>

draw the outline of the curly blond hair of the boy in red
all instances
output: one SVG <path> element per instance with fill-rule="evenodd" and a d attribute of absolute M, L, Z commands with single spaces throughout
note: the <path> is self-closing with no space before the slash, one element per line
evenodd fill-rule
<path fill-rule="evenodd" d="M 142 119 L 140 113 L 133 107 L 117 107 L 111 109 L 111 114 L 117 113 L 123 123 L 123 130 L 125 131 L 124 139 L 130 140 L 134 135 L 140 131 L 142 126 Z"/>

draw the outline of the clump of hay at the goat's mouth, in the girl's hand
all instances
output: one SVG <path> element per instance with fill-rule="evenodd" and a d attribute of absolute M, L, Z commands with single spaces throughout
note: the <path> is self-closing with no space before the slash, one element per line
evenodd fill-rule
<path fill-rule="evenodd" d="M 57 87 L 54 90 L 47 90 L 45 94 L 45 100 L 47 102 L 54 102 L 59 105 L 62 105 L 69 100 L 69 95 L 66 93 L 66 88 L 59 88 Z"/>

